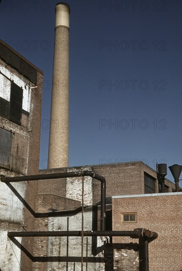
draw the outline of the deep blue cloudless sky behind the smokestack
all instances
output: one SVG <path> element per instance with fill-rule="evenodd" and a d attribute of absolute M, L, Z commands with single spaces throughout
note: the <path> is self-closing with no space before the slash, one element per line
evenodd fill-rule
<path fill-rule="evenodd" d="M 2 0 L 0 38 L 44 72 L 47 167 L 57 0 Z M 182 2 L 67 0 L 69 166 L 182 165 Z M 169 173 L 168 178 L 173 180 Z"/>

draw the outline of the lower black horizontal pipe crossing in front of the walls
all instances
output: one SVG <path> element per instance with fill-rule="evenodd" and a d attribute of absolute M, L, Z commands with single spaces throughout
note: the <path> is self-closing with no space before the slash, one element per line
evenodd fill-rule
<path fill-rule="evenodd" d="M 148 231 L 148 230 L 147 230 Z M 157 235 L 156 233 L 155 236 Z M 151 232 L 152 235 L 152 232 Z M 64 236 L 72 236 L 72 237 L 81 237 L 82 231 L 55 231 L 55 232 L 8 232 L 8 237 L 64 237 Z M 135 229 L 134 231 L 84 231 L 84 236 L 127 236 L 127 237 L 141 237 L 145 236 L 145 230 L 138 231 Z M 154 235 L 152 236 L 154 237 Z"/>

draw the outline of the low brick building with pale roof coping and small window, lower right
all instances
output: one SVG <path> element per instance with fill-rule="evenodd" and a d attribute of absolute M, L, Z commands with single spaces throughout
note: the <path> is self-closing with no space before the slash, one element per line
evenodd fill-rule
<path fill-rule="evenodd" d="M 158 237 L 149 244 L 149 270 L 182 270 L 182 193 L 159 193 L 113 196 L 113 231 L 146 228 Z M 123 215 L 134 215 L 135 220 L 123 221 Z M 139 244 L 136 251 L 113 248 L 115 270 L 139 270 Z M 129 243 L 129 237 L 114 237 L 113 244 Z M 134 248 L 134 246 L 133 246 Z M 128 253 L 129 251 L 129 253 Z M 131 260 L 132 259 L 132 260 Z M 129 268 L 127 268 L 129 267 Z"/>

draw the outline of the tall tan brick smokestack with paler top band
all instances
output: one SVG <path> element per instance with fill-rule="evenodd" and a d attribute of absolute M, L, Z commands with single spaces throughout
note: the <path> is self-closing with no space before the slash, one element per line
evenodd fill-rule
<path fill-rule="evenodd" d="M 69 13 L 67 3 L 56 5 L 48 168 L 68 167 Z"/>

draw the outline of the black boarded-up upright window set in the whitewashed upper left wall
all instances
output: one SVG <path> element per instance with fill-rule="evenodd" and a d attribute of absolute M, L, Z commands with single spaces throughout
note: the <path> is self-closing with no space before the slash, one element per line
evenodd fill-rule
<path fill-rule="evenodd" d="M 11 82 L 9 120 L 21 125 L 23 89 Z"/>

